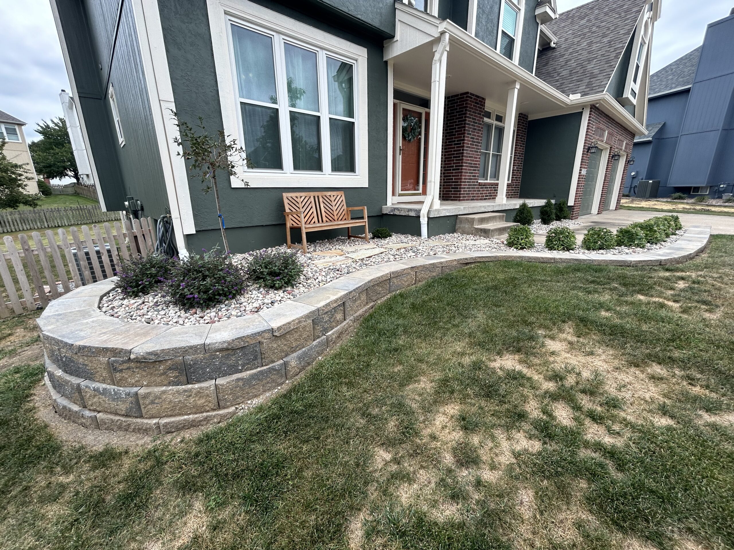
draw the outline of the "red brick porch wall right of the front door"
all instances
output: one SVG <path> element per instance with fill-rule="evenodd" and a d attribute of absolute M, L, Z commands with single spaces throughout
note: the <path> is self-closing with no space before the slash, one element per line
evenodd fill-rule
<path fill-rule="evenodd" d="M 498 184 L 479 181 L 485 101 L 479 95 L 464 92 L 446 98 L 441 157 L 441 200 L 493 200 Z M 528 117 L 517 120 L 515 161 L 512 180 L 507 184 L 508 198 L 520 195 L 523 175 Z"/>

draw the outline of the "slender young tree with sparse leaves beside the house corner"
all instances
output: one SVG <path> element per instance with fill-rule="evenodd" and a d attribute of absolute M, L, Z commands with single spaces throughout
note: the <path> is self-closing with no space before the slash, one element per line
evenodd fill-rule
<path fill-rule="evenodd" d="M 189 161 L 189 170 L 201 177 L 204 184 L 202 191 L 206 194 L 214 189 L 214 200 L 217 202 L 217 216 L 219 216 L 219 229 L 222 230 L 222 241 L 224 241 L 225 252 L 230 252 L 227 243 L 227 232 L 225 232 L 225 220 L 222 216 L 222 207 L 219 203 L 219 188 L 217 187 L 217 170 L 227 172 L 230 176 L 237 175 L 236 162 L 244 161 L 248 168 L 252 168 L 252 161 L 245 156 L 244 149 L 237 145 L 236 139 L 229 139 L 223 130 L 218 130 L 214 135 L 206 131 L 204 120 L 199 117 L 196 125 L 197 131 L 185 120 L 178 118 L 175 111 L 171 111 L 176 121 L 176 127 L 180 137 L 173 138 L 173 142 L 181 147 L 179 156 Z M 250 184 L 244 182 L 246 187 Z"/>

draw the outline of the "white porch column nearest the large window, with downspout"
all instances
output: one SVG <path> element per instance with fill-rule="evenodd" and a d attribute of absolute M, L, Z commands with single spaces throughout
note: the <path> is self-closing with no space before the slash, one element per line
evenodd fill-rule
<path fill-rule="evenodd" d="M 446 100 L 446 62 L 448 60 L 448 33 L 441 34 L 434 44 L 431 67 L 431 130 L 428 136 L 428 188 L 432 197 L 430 208 L 439 208 L 438 192 L 441 179 L 441 147 L 443 146 L 443 106 Z"/>

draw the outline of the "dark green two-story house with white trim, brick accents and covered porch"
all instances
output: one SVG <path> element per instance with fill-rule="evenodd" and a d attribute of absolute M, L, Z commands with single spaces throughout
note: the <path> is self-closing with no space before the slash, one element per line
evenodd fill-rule
<path fill-rule="evenodd" d="M 219 176 L 235 252 L 285 241 L 283 191 L 344 190 L 371 227 L 567 199 L 618 207 L 645 133 L 661 0 L 51 0 L 103 208 L 219 239 L 170 110 L 247 150 Z M 324 232 L 319 237 L 339 234 Z"/>

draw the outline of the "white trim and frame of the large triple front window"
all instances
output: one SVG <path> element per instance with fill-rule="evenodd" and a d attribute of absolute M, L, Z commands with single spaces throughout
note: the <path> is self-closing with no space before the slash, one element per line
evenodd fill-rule
<path fill-rule="evenodd" d="M 214 49 L 214 65 L 217 68 L 217 84 L 219 85 L 219 102 L 222 106 L 224 130 L 228 136 L 238 136 L 238 144 L 244 146 L 242 126 L 240 123 L 239 92 L 233 73 L 234 59 L 230 54 L 230 22 L 245 26 L 257 32 L 276 33 L 288 42 L 307 48 L 319 48 L 328 56 L 344 59 L 355 64 L 355 174 L 343 172 L 284 172 L 282 170 L 247 169 L 239 161 L 236 177 L 230 177 L 232 187 L 317 187 L 317 188 L 349 188 L 368 186 L 368 122 L 367 122 L 367 50 L 332 34 L 288 18 L 272 10 L 252 4 L 247 0 L 207 0 L 211 42 Z M 274 44 L 275 48 L 279 46 Z M 320 54 L 323 56 L 323 52 Z M 321 58 L 319 58 L 321 61 Z M 319 67 L 321 70 L 321 67 Z M 325 67 L 324 69 L 325 70 Z M 276 75 L 278 69 L 276 66 Z M 276 76 L 276 78 L 278 78 Z M 321 81 L 320 81 L 321 82 Z M 327 90 L 320 90 L 325 94 Z M 322 98 L 323 100 L 323 98 Z M 323 103 L 322 103 L 323 105 Z M 288 116 L 287 105 L 279 105 L 280 117 Z M 328 108 L 325 107 L 325 109 Z M 321 128 L 324 122 L 328 125 L 331 115 L 321 113 Z M 324 121 L 324 119 L 326 119 Z M 290 126 L 283 135 L 281 124 L 281 154 L 283 168 L 287 169 L 286 155 L 290 150 Z M 321 139 L 327 140 L 328 133 L 321 132 Z M 330 144 L 326 144 L 327 150 Z M 331 167 L 330 155 L 321 159 L 324 169 Z"/>

